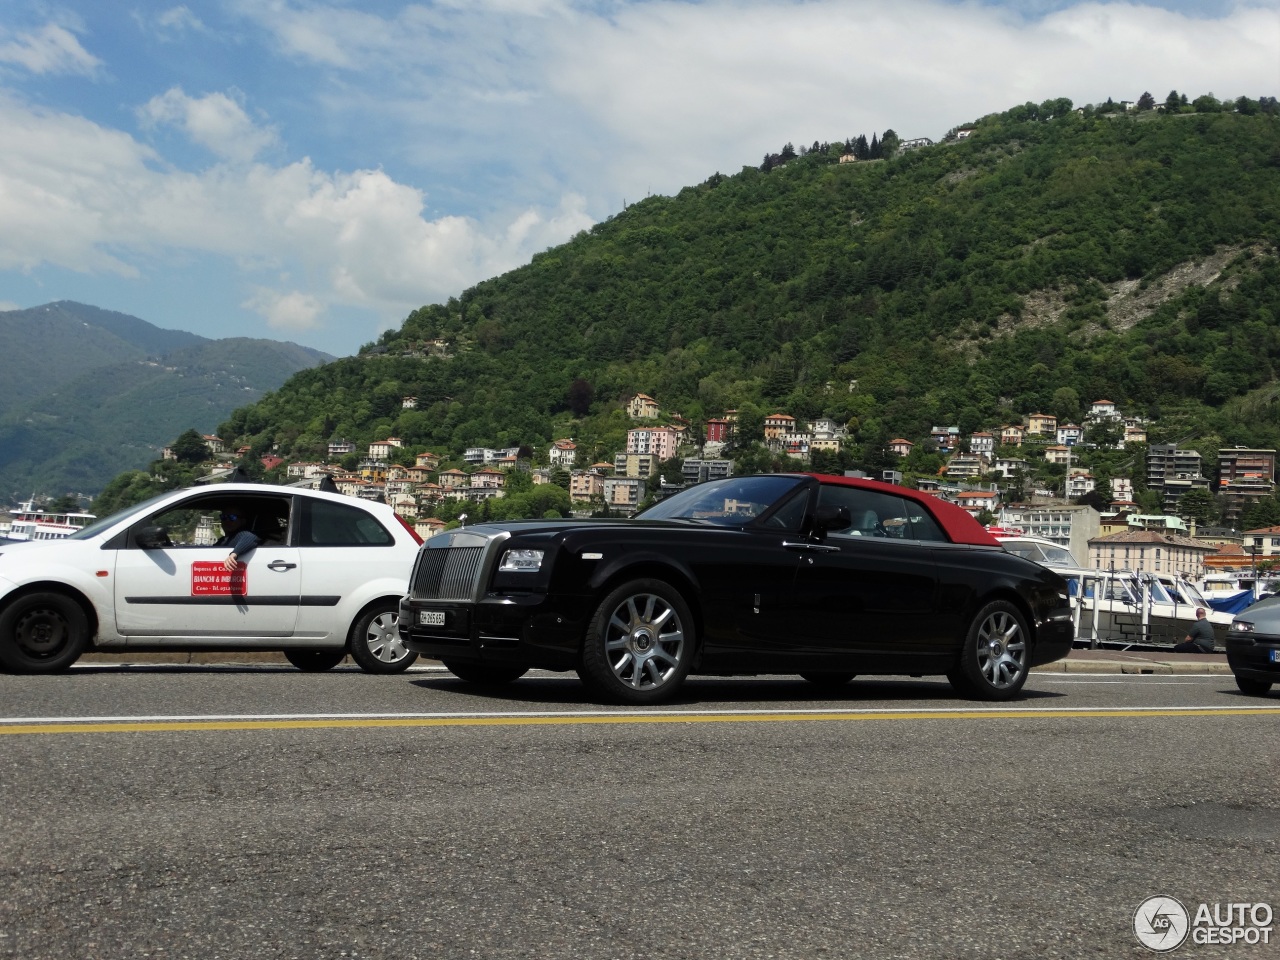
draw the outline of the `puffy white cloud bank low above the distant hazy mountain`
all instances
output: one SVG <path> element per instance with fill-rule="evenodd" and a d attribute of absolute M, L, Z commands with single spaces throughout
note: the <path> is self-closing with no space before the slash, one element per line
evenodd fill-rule
<path fill-rule="evenodd" d="M 481 223 L 426 219 L 421 191 L 381 170 L 310 161 L 161 169 L 128 136 L 0 97 L 0 270 L 44 264 L 120 275 L 206 253 L 239 265 L 248 308 L 283 329 L 334 306 L 403 316 L 590 225 L 580 197 Z M 297 278 L 302 278 L 298 280 Z"/>

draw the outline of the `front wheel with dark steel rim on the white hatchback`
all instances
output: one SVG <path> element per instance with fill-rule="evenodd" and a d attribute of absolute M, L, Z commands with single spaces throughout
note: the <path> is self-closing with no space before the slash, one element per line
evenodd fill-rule
<path fill-rule="evenodd" d="M 0 666 L 14 673 L 67 669 L 88 645 L 88 617 L 70 596 L 19 596 L 0 613 Z"/>

